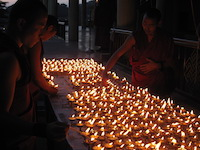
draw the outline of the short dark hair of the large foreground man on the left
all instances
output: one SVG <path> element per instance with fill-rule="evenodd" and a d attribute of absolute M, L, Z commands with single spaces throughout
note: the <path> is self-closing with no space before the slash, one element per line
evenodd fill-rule
<path fill-rule="evenodd" d="M 41 15 L 47 15 L 47 8 L 41 1 L 18 0 L 11 9 L 8 27 L 14 28 L 19 18 L 25 19 L 28 26 Z"/>

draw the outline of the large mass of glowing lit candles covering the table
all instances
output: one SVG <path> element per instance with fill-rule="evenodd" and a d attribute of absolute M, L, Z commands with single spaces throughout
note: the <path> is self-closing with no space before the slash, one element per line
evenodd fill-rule
<path fill-rule="evenodd" d="M 101 85 L 104 67 L 93 59 L 45 60 L 44 66 L 69 76 L 75 91 L 67 98 L 76 111 L 69 120 L 92 149 L 200 149 L 200 116 L 193 111 L 134 87 L 114 72 Z"/>

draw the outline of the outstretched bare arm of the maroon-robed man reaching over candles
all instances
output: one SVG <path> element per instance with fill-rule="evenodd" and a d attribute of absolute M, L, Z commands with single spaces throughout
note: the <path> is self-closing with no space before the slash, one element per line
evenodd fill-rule
<path fill-rule="evenodd" d="M 105 70 L 103 71 L 103 74 L 102 74 L 102 78 L 103 78 L 102 82 L 103 82 L 103 84 L 105 84 L 105 82 L 107 80 L 107 72 L 113 68 L 113 66 L 116 64 L 118 59 L 123 54 L 128 52 L 133 45 L 135 45 L 135 38 L 132 35 L 130 35 L 125 40 L 125 42 L 122 44 L 122 46 L 110 57 L 110 59 L 108 60 L 106 66 L 105 66 Z"/>

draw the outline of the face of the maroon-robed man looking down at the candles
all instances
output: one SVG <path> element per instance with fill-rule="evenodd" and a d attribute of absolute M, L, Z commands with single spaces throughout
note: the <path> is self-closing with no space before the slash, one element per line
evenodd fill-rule
<path fill-rule="evenodd" d="M 154 36 L 158 23 L 156 20 L 148 18 L 144 15 L 142 20 L 142 28 L 147 36 Z"/>

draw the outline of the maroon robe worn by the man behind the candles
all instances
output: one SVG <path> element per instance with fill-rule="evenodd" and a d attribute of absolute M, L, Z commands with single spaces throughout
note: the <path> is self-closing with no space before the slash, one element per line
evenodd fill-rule
<path fill-rule="evenodd" d="M 152 94 L 166 95 L 174 88 L 174 46 L 172 38 L 158 29 L 155 37 L 148 42 L 144 31 L 133 35 L 136 39 L 132 48 L 132 82 L 133 85 L 149 88 Z M 148 63 L 147 58 L 160 63 L 162 68 L 144 74 L 140 66 Z"/>

